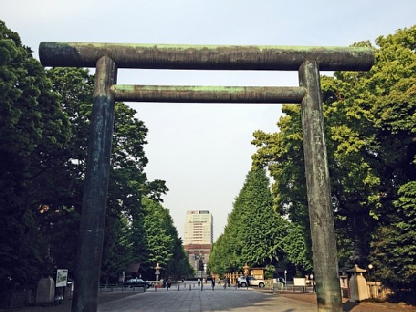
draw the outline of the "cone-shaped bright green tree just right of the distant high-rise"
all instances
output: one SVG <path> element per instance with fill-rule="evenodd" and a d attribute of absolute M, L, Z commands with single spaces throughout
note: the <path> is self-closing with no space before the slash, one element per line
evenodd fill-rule
<path fill-rule="evenodd" d="M 212 272 L 241 271 L 249 266 L 276 266 L 283 259 L 288 222 L 272 208 L 266 171 L 253 168 L 234 201 L 224 233 L 209 259 Z"/>

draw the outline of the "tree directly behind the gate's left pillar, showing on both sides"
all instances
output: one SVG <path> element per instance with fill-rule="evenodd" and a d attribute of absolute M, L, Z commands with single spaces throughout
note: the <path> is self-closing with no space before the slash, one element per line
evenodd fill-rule
<path fill-rule="evenodd" d="M 66 168 L 71 175 L 71 196 L 64 198 L 62 210 L 71 209 L 79 215 L 83 202 L 94 76 L 90 75 L 87 69 L 76 68 L 53 68 L 48 71 L 48 75 L 53 81 L 53 89 L 62 98 L 62 107 L 69 116 L 75 134 L 71 137 L 65 155 Z M 133 220 L 143 220 L 146 215 L 141 207 L 142 196 L 160 198 L 160 194 L 167 191 L 164 181 L 148 182 L 144 173 L 148 162 L 144 153 L 147 128 L 143 121 L 135 117 L 135 114 L 135 110 L 127 105 L 116 103 L 101 268 L 103 281 L 116 281 L 119 274 L 127 270 L 131 263 L 146 260 L 146 254 L 135 252 L 145 250 L 146 248 L 142 247 L 146 246 L 146 241 L 139 235 L 135 236 L 135 242 L 132 242 L 131 224 Z M 142 225 L 136 225 L 136 227 L 140 226 Z M 73 248 L 75 244 L 76 241 L 73 242 Z M 58 248 L 58 245 L 56 247 Z M 52 250 L 55 250 L 55 245 Z M 61 257 L 72 258 L 70 255 L 64 257 L 61 253 L 55 258 L 56 263 L 61 263 Z M 71 268 L 72 266 L 69 267 L 70 270 Z"/>

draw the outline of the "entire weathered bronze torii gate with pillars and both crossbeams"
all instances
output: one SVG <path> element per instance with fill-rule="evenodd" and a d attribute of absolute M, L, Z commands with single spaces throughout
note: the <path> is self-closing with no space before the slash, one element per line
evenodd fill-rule
<path fill-rule="evenodd" d="M 367 71 L 365 47 L 198 46 L 42 42 L 49 67 L 96 67 L 72 311 L 96 311 L 115 101 L 301 103 L 318 311 L 343 311 L 319 71 Z M 116 85 L 117 68 L 299 71 L 300 87 Z"/>

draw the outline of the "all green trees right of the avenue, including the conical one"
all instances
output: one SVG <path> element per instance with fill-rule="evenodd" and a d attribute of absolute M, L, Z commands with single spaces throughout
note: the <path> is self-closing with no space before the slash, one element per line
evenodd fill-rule
<path fill-rule="evenodd" d="M 370 71 L 321 77 L 339 267 L 371 263 L 377 279 L 414 294 L 416 26 L 376 45 Z M 283 112 L 279 132 L 254 132 L 257 153 L 213 245 L 214 272 L 241 271 L 245 263 L 269 275 L 313 270 L 300 105 Z"/>

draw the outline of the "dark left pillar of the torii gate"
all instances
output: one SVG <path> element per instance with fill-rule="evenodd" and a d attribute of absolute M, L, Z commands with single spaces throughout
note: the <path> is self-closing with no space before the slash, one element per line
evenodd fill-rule
<path fill-rule="evenodd" d="M 114 128 L 115 101 L 109 90 L 114 83 L 116 83 L 115 64 L 104 56 L 96 64 L 72 312 L 97 311 Z"/>

